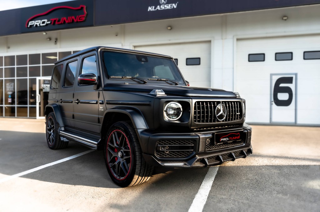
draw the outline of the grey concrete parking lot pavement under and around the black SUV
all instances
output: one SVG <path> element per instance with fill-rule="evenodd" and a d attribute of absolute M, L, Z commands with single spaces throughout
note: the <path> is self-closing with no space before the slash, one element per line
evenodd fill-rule
<path fill-rule="evenodd" d="M 32 170 L 89 150 L 51 150 L 44 120 L 0 118 L 0 211 L 320 211 L 320 128 L 252 126 L 253 154 L 219 167 L 156 168 L 139 186 L 120 188 L 102 151 Z M 204 179 L 216 171 L 212 185 Z M 207 175 L 208 173 L 208 175 Z M 10 177 L 12 176 L 12 177 Z M 198 195 L 197 195 L 198 194 Z"/>

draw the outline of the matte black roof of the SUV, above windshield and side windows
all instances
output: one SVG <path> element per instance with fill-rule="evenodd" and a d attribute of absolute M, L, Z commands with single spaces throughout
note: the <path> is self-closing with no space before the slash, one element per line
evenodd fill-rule
<path fill-rule="evenodd" d="M 122 49 L 122 48 L 114 48 L 114 47 L 106 47 L 106 46 L 95 46 L 95 47 L 91 47 L 88 49 L 84 49 L 81 51 L 77 51 L 76 53 L 73 53 L 71 55 L 68 55 L 67 57 L 63 57 L 60 60 L 58 60 L 57 62 L 55 62 L 54 64 L 58 64 L 62 61 L 68 60 L 70 58 L 79 56 L 79 55 L 83 55 L 87 52 L 90 51 L 99 51 L 99 50 L 111 50 L 111 51 L 119 51 L 119 52 L 125 52 L 125 53 L 137 53 L 137 54 L 143 54 L 143 55 L 149 55 L 149 56 L 157 56 L 157 57 L 165 57 L 165 58 L 169 58 L 169 59 L 173 59 L 173 57 L 167 56 L 167 55 L 161 55 L 161 54 L 156 54 L 156 53 L 151 53 L 151 52 L 146 52 L 146 51 L 138 51 L 138 50 L 133 50 L 133 49 Z"/>

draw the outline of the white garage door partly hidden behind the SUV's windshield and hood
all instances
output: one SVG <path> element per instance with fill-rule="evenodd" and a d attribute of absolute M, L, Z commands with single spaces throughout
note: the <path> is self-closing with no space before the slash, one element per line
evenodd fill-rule
<path fill-rule="evenodd" d="M 134 49 L 169 55 L 177 59 L 178 67 L 190 86 L 211 86 L 211 42 L 136 46 Z"/>

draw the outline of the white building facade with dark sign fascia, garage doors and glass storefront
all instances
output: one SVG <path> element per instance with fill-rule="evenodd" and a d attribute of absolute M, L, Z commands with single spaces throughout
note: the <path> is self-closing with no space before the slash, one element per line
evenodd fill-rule
<path fill-rule="evenodd" d="M 190 86 L 240 93 L 248 123 L 320 125 L 320 1 L 134 2 L 0 11 L 0 117 L 43 117 L 53 63 L 111 46 L 170 55 Z"/>

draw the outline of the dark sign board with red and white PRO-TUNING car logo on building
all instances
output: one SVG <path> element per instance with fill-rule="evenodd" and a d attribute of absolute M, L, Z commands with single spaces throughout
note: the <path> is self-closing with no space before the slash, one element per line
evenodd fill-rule
<path fill-rule="evenodd" d="M 21 32 L 92 26 L 93 0 L 78 0 L 22 8 Z"/>

